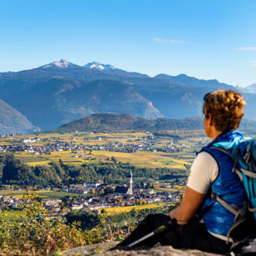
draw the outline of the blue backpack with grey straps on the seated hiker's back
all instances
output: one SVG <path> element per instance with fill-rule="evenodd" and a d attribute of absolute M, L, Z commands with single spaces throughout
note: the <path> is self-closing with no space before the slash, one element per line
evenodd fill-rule
<path fill-rule="evenodd" d="M 239 176 L 244 184 L 248 199 L 243 208 L 238 208 L 219 198 L 214 191 L 211 192 L 212 197 L 235 215 L 235 222 L 230 228 L 228 236 L 232 237 L 233 233 L 237 233 L 236 229 L 239 230 L 239 227 L 241 230 L 243 223 L 248 218 L 251 220 L 252 225 L 249 226 L 249 235 L 244 239 L 236 239 L 233 246 L 231 246 L 231 250 L 236 249 L 233 251 L 237 251 L 235 255 L 243 255 L 248 252 L 256 255 L 256 230 L 253 230 L 256 223 L 256 138 L 244 138 L 231 143 L 214 143 L 211 148 L 222 151 L 233 159 L 233 172 Z M 244 228 L 248 229 L 248 225 Z"/>

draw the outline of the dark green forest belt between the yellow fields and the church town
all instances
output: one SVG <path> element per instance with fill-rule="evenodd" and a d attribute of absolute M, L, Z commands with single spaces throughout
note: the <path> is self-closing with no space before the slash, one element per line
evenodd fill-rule
<path fill-rule="evenodd" d="M 106 184 L 122 184 L 126 182 L 129 170 L 136 178 L 159 179 L 164 175 L 169 178 L 187 176 L 187 170 L 168 168 L 137 168 L 129 164 L 99 163 L 82 166 L 51 162 L 50 165 L 37 165 L 35 167 L 24 165 L 20 159 L 15 159 L 12 154 L 0 156 L 0 184 L 13 184 L 18 186 L 61 187 L 68 184 L 81 184 L 85 181 L 105 181 Z"/>

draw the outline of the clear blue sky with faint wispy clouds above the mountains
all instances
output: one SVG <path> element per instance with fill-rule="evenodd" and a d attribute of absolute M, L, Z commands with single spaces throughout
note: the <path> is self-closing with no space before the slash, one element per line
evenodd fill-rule
<path fill-rule="evenodd" d="M 66 59 L 256 83 L 254 0 L 1 0 L 0 72 Z"/>

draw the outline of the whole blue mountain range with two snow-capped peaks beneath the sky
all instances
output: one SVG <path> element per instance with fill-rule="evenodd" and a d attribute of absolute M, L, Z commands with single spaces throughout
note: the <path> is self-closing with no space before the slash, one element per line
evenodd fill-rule
<path fill-rule="evenodd" d="M 98 62 L 80 66 L 62 59 L 20 72 L 1 72 L 0 89 L 6 105 L 34 129 L 46 130 L 94 113 L 130 113 L 149 119 L 202 116 L 204 94 L 238 88 L 184 74 L 152 78 Z M 256 118 L 256 94 L 250 90 L 243 95 L 245 116 Z M 8 116 L 10 108 L 2 109 L 1 115 Z"/>

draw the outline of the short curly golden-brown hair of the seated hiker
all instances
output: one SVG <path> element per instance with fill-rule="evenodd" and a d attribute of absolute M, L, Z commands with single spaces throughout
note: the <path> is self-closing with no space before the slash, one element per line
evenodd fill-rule
<path fill-rule="evenodd" d="M 245 105 L 246 102 L 237 91 L 214 91 L 204 97 L 203 114 L 206 118 L 211 115 L 216 129 L 227 132 L 239 127 Z"/>

